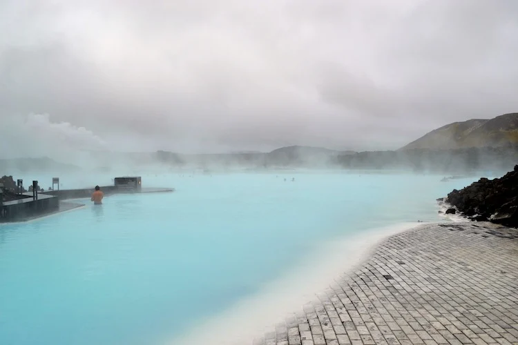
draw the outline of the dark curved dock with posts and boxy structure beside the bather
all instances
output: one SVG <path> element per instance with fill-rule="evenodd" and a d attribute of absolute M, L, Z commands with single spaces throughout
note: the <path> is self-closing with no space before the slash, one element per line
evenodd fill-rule
<path fill-rule="evenodd" d="M 58 188 L 54 189 L 56 184 Z M 142 177 L 115 177 L 113 186 L 103 186 L 101 190 L 105 195 L 174 192 L 174 188 L 144 188 Z M 23 181 L 19 179 L 16 190 L 0 186 L 0 223 L 28 221 L 79 208 L 84 204 L 66 200 L 89 198 L 93 191 L 93 186 L 60 190 L 59 178 L 54 177 L 51 190 L 41 190 L 38 181 L 32 181 L 29 192 L 23 192 Z"/>

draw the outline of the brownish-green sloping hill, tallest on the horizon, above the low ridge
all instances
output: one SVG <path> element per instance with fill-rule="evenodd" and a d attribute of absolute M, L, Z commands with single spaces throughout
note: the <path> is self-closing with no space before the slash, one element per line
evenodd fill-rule
<path fill-rule="evenodd" d="M 494 119 L 454 122 L 403 146 L 400 150 L 499 147 L 518 144 L 518 112 Z"/>

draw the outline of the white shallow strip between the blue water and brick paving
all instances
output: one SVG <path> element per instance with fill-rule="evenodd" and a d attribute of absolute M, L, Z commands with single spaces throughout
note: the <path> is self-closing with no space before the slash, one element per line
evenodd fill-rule
<path fill-rule="evenodd" d="M 372 251 L 388 237 L 433 223 L 401 223 L 368 230 L 327 243 L 318 253 L 309 255 L 293 273 L 262 288 L 217 318 L 207 319 L 195 330 L 177 339 L 165 339 L 167 345 L 238 345 L 251 344 L 254 337 L 272 331 L 291 313 L 316 299 L 334 279 L 347 275 L 363 264 Z"/>

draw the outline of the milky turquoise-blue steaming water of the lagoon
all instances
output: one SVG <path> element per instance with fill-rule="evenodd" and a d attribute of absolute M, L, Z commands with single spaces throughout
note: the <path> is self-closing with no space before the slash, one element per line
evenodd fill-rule
<path fill-rule="evenodd" d="M 115 195 L 100 207 L 83 200 L 86 208 L 4 224 L 0 344 L 175 339 L 260 293 L 324 242 L 401 221 L 440 221 L 435 199 L 474 180 L 440 179 L 152 175 L 143 177 L 144 186 L 175 193 Z M 69 188 L 78 181 L 61 177 Z"/>

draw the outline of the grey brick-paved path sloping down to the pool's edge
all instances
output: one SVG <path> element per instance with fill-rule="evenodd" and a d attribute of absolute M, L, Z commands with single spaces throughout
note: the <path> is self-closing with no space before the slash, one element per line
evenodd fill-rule
<path fill-rule="evenodd" d="M 448 223 L 390 237 L 253 344 L 518 344 L 518 230 Z"/>

